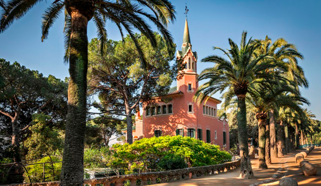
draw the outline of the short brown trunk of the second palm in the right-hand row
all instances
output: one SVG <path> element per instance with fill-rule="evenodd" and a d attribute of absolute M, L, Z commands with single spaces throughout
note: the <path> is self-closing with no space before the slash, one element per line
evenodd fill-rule
<path fill-rule="evenodd" d="M 259 169 L 267 169 L 265 162 L 265 119 L 258 116 L 257 119 L 259 127 Z"/>

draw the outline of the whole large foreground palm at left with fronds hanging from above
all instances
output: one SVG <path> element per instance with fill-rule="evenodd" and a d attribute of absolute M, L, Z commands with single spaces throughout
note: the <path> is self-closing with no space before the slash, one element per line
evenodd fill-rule
<path fill-rule="evenodd" d="M 0 33 L 13 21 L 23 17 L 30 9 L 44 0 L 1 0 L 4 9 L 0 18 Z M 144 11 L 144 8 L 147 10 Z M 167 0 L 56 0 L 45 11 L 42 22 L 42 41 L 47 39 L 49 29 L 61 12 L 65 14 L 65 57 L 69 62 L 68 117 L 61 171 L 61 185 L 83 185 L 84 182 L 84 137 L 86 127 L 88 38 L 87 26 L 92 19 L 97 27 L 98 38 L 103 43 L 107 38 L 105 24 L 115 23 L 123 34 L 125 29 L 132 37 L 144 66 L 144 54 L 133 29 L 146 35 L 153 47 L 156 39 L 151 27 L 143 18 L 156 25 L 163 34 L 168 48 L 173 48 L 173 39 L 167 25 L 175 20 L 175 10 Z M 151 13 L 149 13 L 151 12 Z"/>

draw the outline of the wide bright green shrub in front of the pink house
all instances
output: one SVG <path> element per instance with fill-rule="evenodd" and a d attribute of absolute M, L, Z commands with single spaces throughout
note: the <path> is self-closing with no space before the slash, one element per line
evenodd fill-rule
<path fill-rule="evenodd" d="M 191 167 L 220 164 L 231 160 L 231 155 L 220 150 L 218 145 L 182 136 L 160 136 L 143 138 L 133 144 L 114 144 L 112 154 L 113 159 L 118 160 L 117 165 L 142 162 L 144 167 L 149 169 L 158 168 L 161 161 L 180 161 L 177 157 L 182 157 Z M 176 169 L 177 165 L 174 167 Z"/>

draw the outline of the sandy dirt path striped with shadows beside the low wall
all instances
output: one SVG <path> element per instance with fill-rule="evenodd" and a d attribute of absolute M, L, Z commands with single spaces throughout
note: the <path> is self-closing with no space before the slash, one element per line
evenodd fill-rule
<path fill-rule="evenodd" d="M 258 169 L 258 159 L 253 159 L 252 168 L 255 179 L 240 179 L 238 178 L 240 169 L 234 169 L 230 172 L 224 172 L 215 175 L 208 175 L 199 178 L 182 180 L 169 183 L 157 183 L 153 186 L 197 186 L 197 185 L 237 185 L 237 186 L 261 186 L 261 185 L 278 185 L 277 179 L 280 177 L 292 177 L 296 179 L 301 186 L 316 186 L 321 185 L 321 147 L 315 147 L 314 150 L 308 155 L 306 160 L 313 163 L 318 167 L 316 176 L 305 177 L 300 171 L 300 167 L 295 163 L 294 155 L 297 152 L 292 152 L 283 158 L 272 159 L 272 164 L 268 165 L 267 170 Z"/>

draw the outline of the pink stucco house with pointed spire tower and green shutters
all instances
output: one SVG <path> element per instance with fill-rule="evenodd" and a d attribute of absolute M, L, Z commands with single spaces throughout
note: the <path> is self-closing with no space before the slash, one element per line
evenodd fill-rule
<path fill-rule="evenodd" d="M 187 19 L 182 51 L 177 51 L 177 57 L 182 57 L 186 63 L 183 77 L 167 95 L 162 98 L 155 97 L 154 104 L 143 103 L 142 118 L 139 111 L 135 118 L 134 140 L 160 135 L 182 135 L 217 144 L 229 150 L 228 123 L 225 119 L 217 117 L 217 104 L 221 101 L 210 97 L 199 107 L 192 101 L 198 88 L 197 53 L 192 51 Z M 166 102 L 162 102 L 164 98 Z"/>

